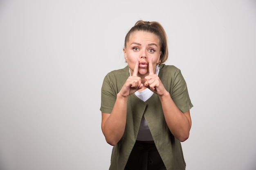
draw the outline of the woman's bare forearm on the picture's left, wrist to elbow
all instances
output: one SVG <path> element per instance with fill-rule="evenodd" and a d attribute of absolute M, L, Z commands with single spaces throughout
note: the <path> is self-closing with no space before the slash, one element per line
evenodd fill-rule
<path fill-rule="evenodd" d="M 126 126 L 127 100 L 117 94 L 117 100 L 112 112 L 104 124 L 104 136 L 108 144 L 115 146 L 124 135 Z"/>

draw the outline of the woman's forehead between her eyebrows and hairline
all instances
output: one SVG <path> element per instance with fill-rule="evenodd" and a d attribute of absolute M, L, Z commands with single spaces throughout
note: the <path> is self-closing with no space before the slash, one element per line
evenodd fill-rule
<path fill-rule="evenodd" d="M 146 32 L 146 31 L 135 31 L 130 34 L 128 41 L 131 43 L 133 41 L 138 41 L 138 43 L 141 41 L 150 41 L 150 42 L 155 42 L 159 44 L 159 37 L 154 33 Z"/>

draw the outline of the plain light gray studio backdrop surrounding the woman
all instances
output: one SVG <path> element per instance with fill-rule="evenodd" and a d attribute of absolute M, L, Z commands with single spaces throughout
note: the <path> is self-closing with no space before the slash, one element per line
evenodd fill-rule
<path fill-rule="evenodd" d="M 255 0 L 0 0 L 1 170 L 108 169 L 101 83 L 140 19 L 189 88 L 187 170 L 256 169 Z"/>

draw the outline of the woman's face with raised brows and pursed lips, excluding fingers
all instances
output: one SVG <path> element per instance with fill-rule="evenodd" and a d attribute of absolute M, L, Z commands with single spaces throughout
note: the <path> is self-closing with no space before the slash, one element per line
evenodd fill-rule
<path fill-rule="evenodd" d="M 126 42 L 126 48 L 124 48 L 124 57 L 128 62 L 131 75 L 136 59 L 139 60 L 138 76 L 148 75 L 148 63 L 151 58 L 155 73 L 161 55 L 160 48 L 159 38 L 155 34 L 144 31 L 133 32 Z"/>

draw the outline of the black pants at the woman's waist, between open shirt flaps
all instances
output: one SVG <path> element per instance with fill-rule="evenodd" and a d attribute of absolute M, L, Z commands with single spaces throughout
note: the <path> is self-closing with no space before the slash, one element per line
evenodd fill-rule
<path fill-rule="evenodd" d="M 156 146 L 135 143 L 124 170 L 166 170 Z"/>

